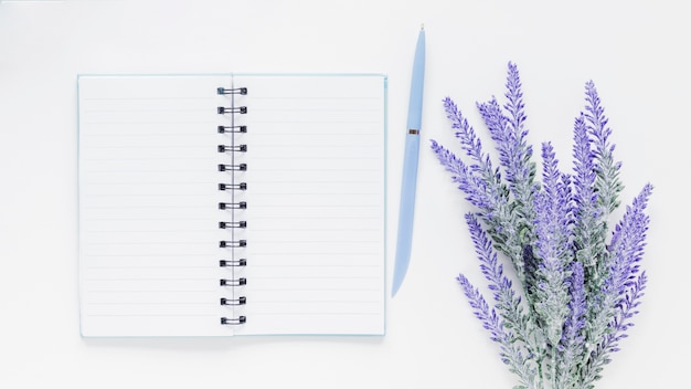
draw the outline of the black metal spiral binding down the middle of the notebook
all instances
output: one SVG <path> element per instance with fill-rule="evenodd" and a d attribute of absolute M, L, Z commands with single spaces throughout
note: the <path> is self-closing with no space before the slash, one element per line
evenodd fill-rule
<path fill-rule="evenodd" d="M 242 137 L 247 133 L 247 126 L 237 125 L 236 116 L 247 114 L 247 107 L 236 104 L 236 98 L 242 99 L 241 96 L 247 95 L 246 87 L 238 88 L 224 88 L 219 87 L 216 90 L 219 95 L 227 97 L 230 106 L 219 106 L 216 112 L 219 115 L 226 115 L 226 120 L 230 119 L 230 125 L 220 125 L 216 127 L 217 133 L 223 136 L 224 141 L 220 141 L 217 151 L 224 154 L 223 158 L 227 157 L 227 161 L 217 165 L 220 174 L 224 174 L 224 180 L 231 182 L 220 182 L 219 190 L 225 191 L 224 197 L 227 197 L 227 201 L 219 202 L 220 211 L 224 212 L 219 221 L 219 229 L 225 230 L 228 233 L 227 239 L 219 241 L 219 248 L 224 250 L 230 259 L 220 260 L 219 266 L 226 267 L 230 271 L 228 278 L 220 278 L 219 284 L 224 287 L 224 291 L 230 292 L 232 297 L 221 297 L 220 302 L 222 306 L 237 307 L 247 303 L 247 297 L 238 292 L 247 284 L 245 277 L 238 276 L 241 269 L 247 265 L 247 259 L 240 257 L 244 248 L 247 245 L 247 241 L 242 238 L 242 230 L 247 228 L 247 221 L 242 220 L 240 212 L 247 209 L 247 202 L 241 201 L 242 192 L 247 190 L 247 182 L 238 179 L 238 175 L 242 175 L 247 170 L 247 164 L 242 161 L 242 156 L 247 153 L 247 145 L 236 141 L 237 137 Z M 230 175 L 228 175 L 230 174 Z M 228 177 L 230 176 L 230 177 Z M 246 316 L 236 317 L 221 317 L 222 325 L 240 325 L 246 322 Z"/>

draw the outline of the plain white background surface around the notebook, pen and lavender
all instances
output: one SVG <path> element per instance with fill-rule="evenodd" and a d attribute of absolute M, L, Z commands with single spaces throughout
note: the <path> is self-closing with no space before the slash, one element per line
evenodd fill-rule
<path fill-rule="evenodd" d="M 470 208 L 435 160 L 454 147 L 442 99 L 480 133 L 475 102 L 519 65 L 529 140 L 571 165 L 594 80 L 624 161 L 625 203 L 656 186 L 641 314 L 599 388 L 688 378 L 689 10 L 682 1 L 127 1 L 0 3 L 0 388 L 511 388 L 458 272 L 485 285 Z M 389 75 L 389 241 L 415 40 L 427 71 L 412 263 L 385 337 L 83 339 L 77 304 L 77 73 L 378 72 Z M 391 278 L 390 278 L 391 280 Z"/>

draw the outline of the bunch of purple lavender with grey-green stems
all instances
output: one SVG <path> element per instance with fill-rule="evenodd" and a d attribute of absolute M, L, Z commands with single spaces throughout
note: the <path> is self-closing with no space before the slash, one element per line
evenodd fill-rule
<path fill-rule="evenodd" d="M 646 273 L 640 271 L 652 187 L 646 185 L 612 229 L 608 217 L 624 188 L 612 130 L 593 82 L 585 113 L 574 123 L 573 170 L 562 172 L 550 143 L 542 144 L 542 182 L 527 144 L 518 69 L 509 63 L 507 102 L 477 104 L 496 144 L 492 165 L 466 117 L 444 101 L 469 162 L 432 140 L 432 149 L 476 208 L 466 214 L 490 307 L 460 274 L 475 315 L 500 345 L 501 360 L 519 378 L 514 389 L 594 388 L 632 326 Z M 607 240 L 607 238 L 609 238 Z M 508 274 L 498 253 L 513 265 Z M 511 280 L 518 281 L 514 287 Z"/>

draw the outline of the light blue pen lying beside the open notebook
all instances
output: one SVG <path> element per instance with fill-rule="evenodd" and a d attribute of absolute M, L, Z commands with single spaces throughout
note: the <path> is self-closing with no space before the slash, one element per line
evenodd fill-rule
<path fill-rule="evenodd" d="M 401 183 L 401 208 L 398 212 L 398 240 L 396 242 L 396 263 L 393 272 L 392 296 L 403 283 L 411 261 L 413 243 L 413 215 L 415 214 L 415 187 L 417 182 L 417 158 L 419 155 L 419 129 L 423 117 L 423 86 L 425 81 L 425 28 L 419 30 L 415 62 L 413 63 L 413 81 L 411 82 L 411 101 L 408 103 L 408 122 L 405 135 L 405 155 L 403 159 L 403 179 Z"/>

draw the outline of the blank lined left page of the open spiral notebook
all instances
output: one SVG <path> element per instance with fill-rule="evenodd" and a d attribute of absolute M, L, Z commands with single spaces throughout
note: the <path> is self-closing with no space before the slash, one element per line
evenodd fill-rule
<path fill-rule="evenodd" d="M 230 76 L 81 76 L 84 336 L 232 335 L 216 153 Z"/>

